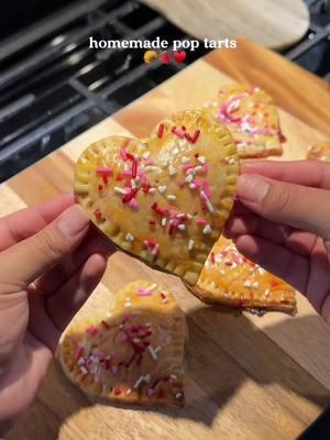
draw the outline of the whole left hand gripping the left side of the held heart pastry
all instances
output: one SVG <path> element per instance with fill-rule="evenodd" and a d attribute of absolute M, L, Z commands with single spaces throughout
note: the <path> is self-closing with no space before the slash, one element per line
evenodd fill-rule
<path fill-rule="evenodd" d="M 113 252 L 89 224 L 72 195 L 0 219 L 0 435 L 33 402 Z"/>

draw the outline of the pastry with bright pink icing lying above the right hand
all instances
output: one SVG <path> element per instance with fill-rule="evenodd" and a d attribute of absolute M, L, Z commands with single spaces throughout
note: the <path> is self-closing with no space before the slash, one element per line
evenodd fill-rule
<path fill-rule="evenodd" d="M 218 99 L 206 106 L 231 132 L 240 157 L 280 155 L 282 142 L 277 109 L 258 87 L 231 84 L 219 90 Z"/>

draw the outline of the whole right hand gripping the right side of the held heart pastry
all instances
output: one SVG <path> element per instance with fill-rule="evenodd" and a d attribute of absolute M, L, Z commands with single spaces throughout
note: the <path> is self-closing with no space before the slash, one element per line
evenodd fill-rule
<path fill-rule="evenodd" d="M 330 323 L 330 165 L 246 162 L 224 234 L 305 294 Z"/>

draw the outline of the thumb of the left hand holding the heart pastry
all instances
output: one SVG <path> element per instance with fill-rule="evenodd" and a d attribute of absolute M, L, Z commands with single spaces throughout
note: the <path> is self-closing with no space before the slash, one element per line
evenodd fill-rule
<path fill-rule="evenodd" d="M 35 235 L 0 254 L 1 283 L 23 289 L 70 254 L 88 231 L 89 219 L 79 205 L 66 209 Z"/>

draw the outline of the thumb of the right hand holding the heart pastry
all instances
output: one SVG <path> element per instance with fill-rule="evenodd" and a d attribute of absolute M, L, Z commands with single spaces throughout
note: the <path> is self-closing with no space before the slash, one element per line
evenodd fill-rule
<path fill-rule="evenodd" d="M 244 174 L 238 197 L 265 219 L 330 239 L 330 190 Z"/>

